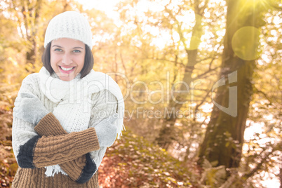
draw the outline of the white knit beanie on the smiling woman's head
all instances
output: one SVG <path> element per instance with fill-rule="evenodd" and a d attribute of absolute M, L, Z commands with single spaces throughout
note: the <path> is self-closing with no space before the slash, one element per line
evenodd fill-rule
<path fill-rule="evenodd" d="M 92 32 L 88 20 L 75 11 L 56 15 L 48 24 L 44 47 L 54 39 L 69 38 L 85 43 L 92 50 Z"/>

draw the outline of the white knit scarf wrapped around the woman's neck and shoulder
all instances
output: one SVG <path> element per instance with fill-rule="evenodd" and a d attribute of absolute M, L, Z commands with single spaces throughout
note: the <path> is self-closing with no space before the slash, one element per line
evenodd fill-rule
<path fill-rule="evenodd" d="M 62 81 L 56 74 L 51 75 L 45 67 L 42 67 L 39 77 L 40 87 L 44 95 L 52 102 L 58 103 L 58 106 L 53 110 L 53 114 L 67 133 L 88 128 L 92 94 L 98 93 L 100 90 L 109 90 L 118 100 L 116 126 L 118 138 L 121 137 L 121 131 L 125 130 L 123 126 L 123 95 L 119 85 L 110 76 L 91 70 L 82 79 L 79 75 L 72 81 Z M 47 176 L 55 175 L 58 172 L 65 174 L 58 165 L 46 168 Z"/>

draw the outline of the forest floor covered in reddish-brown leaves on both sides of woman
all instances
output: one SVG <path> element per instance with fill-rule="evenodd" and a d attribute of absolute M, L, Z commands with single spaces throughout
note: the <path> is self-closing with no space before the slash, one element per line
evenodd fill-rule
<path fill-rule="evenodd" d="M 11 143 L 12 113 L 0 112 L 0 187 L 11 187 L 18 168 Z M 192 169 L 130 130 L 107 149 L 100 187 L 194 187 Z"/>

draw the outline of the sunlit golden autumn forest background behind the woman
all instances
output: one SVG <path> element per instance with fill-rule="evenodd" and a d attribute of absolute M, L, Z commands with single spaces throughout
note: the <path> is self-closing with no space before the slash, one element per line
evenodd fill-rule
<path fill-rule="evenodd" d="M 22 79 L 42 67 L 48 22 L 70 10 L 88 18 L 94 69 L 119 83 L 126 102 L 126 131 L 107 150 L 101 187 L 281 187 L 281 8 L 1 0 L 0 187 L 18 168 L 11 128 Z"/>

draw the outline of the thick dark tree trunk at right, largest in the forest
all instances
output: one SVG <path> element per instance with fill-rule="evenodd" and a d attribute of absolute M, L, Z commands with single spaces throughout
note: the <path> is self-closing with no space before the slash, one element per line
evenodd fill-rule
<path fill-rule="evenodd" d="M 242 6 L 242 4 L 243 0 L 227 1 L 227 29 L 220 74 L 220 78 L 225 78 L 226 84 L 221 84 L 224 86 L 218 87 L 214 101 L 217 105 L 213 107 L 206 135 L 200 147 L 199 164 L 207 159 L 215 166 L 223 165 L 226 168 L 236 168 L 239 167 L 241 160 L 243 134 L 253 95 L 251 80 L 255 69 L 255 58 L 253 60 L 239 58 L 238 53 L 234 53 L 232 49 L 232 38 L 238 29 L 246 26 L 255 27 L 258 23 L 255 22 L 255 19 L 258 18 L 255 8 L 243 11 L 242 7 L 246 8 L 246 6 Z M 250 45 L 255 50 L 258 47 L 257 43 L 257 38 L 250 39 Z M 224 80 L 222 81 L 224 82 Z M 218 104 L 225 107 L 225 112 L 217 107 Z"/>

